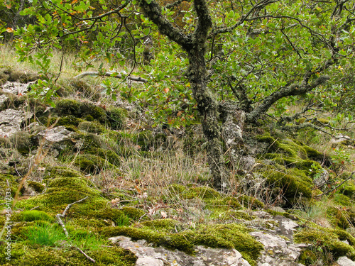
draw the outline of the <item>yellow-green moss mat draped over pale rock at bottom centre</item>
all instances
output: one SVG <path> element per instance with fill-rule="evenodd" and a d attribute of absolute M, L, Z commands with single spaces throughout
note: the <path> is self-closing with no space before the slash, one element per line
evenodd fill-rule
<path fill-rule="evenodd" d="M 152 221 L 138 224 L 138 228 L 119 227 L 102 228 L 101 232 L 107 237 L 126 235 L 133 240 L 145 239 L 155 245 L 163 245 L 170 249 L 179 249 L 186 253 L 194 253 L 195 245 L 206 245 L 211 248 L 235 248 L 251 265 L 256 265 L 255 260 L 263 249 L 251 235 L 249 229 L 236 224 L 228 225 L 201 225 L 196 230 L 185 230 L 173 233 L 173 228 L 178 222 Z"/>

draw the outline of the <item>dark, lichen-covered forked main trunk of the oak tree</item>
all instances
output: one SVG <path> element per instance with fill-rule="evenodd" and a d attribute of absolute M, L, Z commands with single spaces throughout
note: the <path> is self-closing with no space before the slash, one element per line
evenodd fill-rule
<path fill-rule="evenodd" d="M 158 26 L 160 33 L 178 43 L 187 52 L 189 59 L 187 77 L 197 101 L 197 109 L 202 117 L 203 133 L 208 141 L 207 155 L 212 185 L 224 191 L 227 185 L 227 172 L 222 153 L 222 130 L 218 123 L 218 103 L 207 86 L 207 67 L 204 59 L 207 35 L 212 27 L 212 20 L 205 0 L 194 0 L 193 4 L 198 17 L 195 32 L 185 35 L 163 17 L 160 6 L 154 0 L 150 4 L 141 0 L 141 8 L 146 16 Z"/>

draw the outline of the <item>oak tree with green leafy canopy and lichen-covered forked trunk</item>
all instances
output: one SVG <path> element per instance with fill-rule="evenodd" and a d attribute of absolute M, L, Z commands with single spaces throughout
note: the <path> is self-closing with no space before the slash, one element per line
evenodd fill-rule
<path fill-rule="evenodd" d="M 237 152 L 245 123 L 270 109 L 280 126 L 315 106 L 354 111 L 354 10 L 354 0 L 33 0 L 21 14 L 36 22 L 17 28 L 17 50 L 42 67 L 43 87 L 54 79 L 53 48 L 76 49 L 86 65 L 131 60 L 152 80 L 137 99 L 185 121 L 197 109 L 213 185 L 224 190 L 224 147 Z M 144 65 L 148 37 L 153 56 Z M 288 116 L 301 100 L 304 109 Z"/>

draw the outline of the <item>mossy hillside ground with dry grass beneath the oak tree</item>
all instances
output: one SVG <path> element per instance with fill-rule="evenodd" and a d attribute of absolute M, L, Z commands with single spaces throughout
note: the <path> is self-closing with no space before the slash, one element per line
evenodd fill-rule
<path fill-rule="evenodd" d="M 89 84 L 67 84 L 69 95 L 55 99 L 50 116 L 45 106 L 31 101 L 37 117 L 26 123 L 42 125 L 24 125 L 23 132 L 0 141 L 0 204 L 6 204 L 6 191 L 14 198 L 26 176 L 11 213 L 11 261 L 0 244 L 0 265 L 92 265 L 77 248 L 97 265 L 134 265 L 133 253 L 108 242 L 117 235 L 192 255 L 196 245 L 234 248 L 256 265 L 263 245 L 249 235 L 256 230 L 249 225 L 259 210 L 299 223 L 295 241 L 310 244 L 300 256 L 303 264 L 312 265 L 319 257 L 324 265 L 343 255 L 355 259 L 355 184 L 349 179 L 337 187 L 349 174 L 344 168 L 339 174 L 339 165 L 297 136 L 249 129 L 255 164 L 245 170 L 226 160 L 231 178 L 221 193 L 211 187 L 201 149 L 205 140 L 191 134 L 197 131 L 193 126 L 185 128 L 185 135 L 153 128 L 115 104 L 79 99 L 99 99 Z M 13 96 L 6 104 L 20 107 L 26 101 Z M 26 175 L 40 145 L 38 132 L 53 123 L 72 135 L 40 148 L 50 152 Z M 324 170 L 327 184 L 321 187 L 317 180 Z M 67 238 L 56 215 L 70 204 L 62 218 Z"/>

